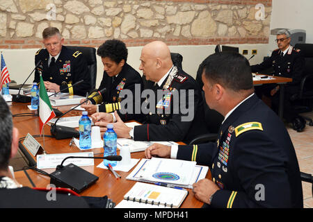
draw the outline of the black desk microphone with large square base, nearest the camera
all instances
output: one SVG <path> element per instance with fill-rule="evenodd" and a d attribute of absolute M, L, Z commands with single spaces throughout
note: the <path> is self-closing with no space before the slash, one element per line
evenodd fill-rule
<path fill-rule="evenodd" d="M 55 185 L 56 187 L 70 188 L 77 193 L 81 193 L 81 191 L 93 185 L 93 183 L 95 183 L 99 178 L 93 175 L 93 173 L 89 173 L 81 167 L 77 167 L 75 164 L 70 163 L 63 166 L 65 160 L 70 158 L 104 159 L 113 161 L 122 160 L 120 155 L 109 155 L 107 157 L 66 157 L 61 162 L 61 165 L 56 167 L 56 171 L 49 174 L 49 177 L 51 178 L 50 184 Z"/>

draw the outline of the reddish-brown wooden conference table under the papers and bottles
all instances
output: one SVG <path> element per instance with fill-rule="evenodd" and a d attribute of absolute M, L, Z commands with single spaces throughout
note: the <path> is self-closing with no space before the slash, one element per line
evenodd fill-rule
<path fill-rule="evenodd" d="M 13 103 L 10 106 L 11 112 L 13 114 L 20 114 L 20 113 L 28 113 L 35 111 L 29 110 L 26 105 L 23 103 Z M 66 105 L 60 106 L 58 109 L 61 112 L 65 112 L 69 110 L 73 105 Z M 80 116 L 81 111 L 71 111 L 69 114 L 66 114 L 65 117 L 68 116 Z M 13 117 L 13 124 L 16 128 L 19 129 L 19 138 L 25 137 L 27 133 L 31 135 L 39 135 L 39 117 Z M 51 135 L 50 133 L 50 126 L 44 127 L 44 134 Z M 38 137 L 35 138 L 41 145 L 43 144 L 43 138 Z M 45 137 L 45 151 L 47 154 L 56 154 L 56 153 L 77 153 L 83 152 L 76 146 L 70 146 L 71 139 L 55 139 L 51 137 Z M 179 144 L 183 144 L 179 142 Z M 20 147 L 20 150 L 24 153 L 24 155 L 30 159 L 31 163 L 35 163 L 36 158 L 26 149 Z M 92 150 L 87 150 L 86 152 L 92 151 L 95 157 L 102 157 L 103 156 L 103 148 L 95 148 Z M 119 151 L 118 151 L 119 154 Z M 141 159 L 145 158 L 144 151 L 131 153 L 131 158 Z M 123 196 L 131 189 L 131 187 L 136 183 L 133 180 L 127 180 L 126 177 L 129 173 L 136 167 L 133 167 L 129 172 L 117 171 L 121 179 L 116 179 L 113 176 L 113 173 L 107 169 L 100 169 L 97 168 L 97 165 L 100 164 L 103 160 L 95 159 L 95 165 L 90 167 L 81 167 L 90 173 L 95 174 L 99 177 L 99 180 L 95 182 L 94 185 L 88 187 L 86 190 L 81 192 L 81 196 L 105 196 L 107 195 L 108 198 L 111 198 L 113 202 L 116 204 L 120 203 L 123 199 Z M 55 169 L 43 169 L 47 173 L 52 173 Z M 35 187 L 46 188 L 47 185 L 50 183 L 50 178 L 47 176 L 43 176 L 32 169 L 26 170 L 26 173 L 31 178 Z M 22 184 L 23 186 L 33 187 L 29 178 L 27 178 L 26 173 L 22 171 L 15 171 L 15 178 L 16 180 Z M 211 179 L 211 174 L 207 173 L 207 178 Z M 202 202 L 197 200 L 193 194 L 191 189 L 188 189 L 189 193 L 184 202 L 181 205 L 181 208 L 199 208 L 202 207 Z"/>

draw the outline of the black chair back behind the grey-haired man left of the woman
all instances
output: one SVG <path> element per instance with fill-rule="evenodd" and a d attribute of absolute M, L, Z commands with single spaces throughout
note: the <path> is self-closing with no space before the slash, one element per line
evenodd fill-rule
<path fill-rule="evenodd" d="M 73 51 L 81 51 L 81 53 L 83 53 L 83 56 L 87 61 L 88 70 L 90 73 L 91 89 L 95 89 L 95 84 L 97 80 L 97 58 L 95 48 L 84 46 L 67 46 L 67 48 Z"/>

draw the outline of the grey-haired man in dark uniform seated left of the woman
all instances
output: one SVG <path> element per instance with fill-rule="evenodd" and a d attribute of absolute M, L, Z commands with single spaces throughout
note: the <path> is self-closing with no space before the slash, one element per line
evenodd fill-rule
<path fill-rule="evenodd" d="M 39 83 L 40 73 L 45 81 L 45 87 L 49 92 L 69 92 L 86 96 L 90 91 L 90 74 L 87 62 L 80 51 L 72 51 L 63 46 L 64 38 L 61 37 L 58 28 L 48 27 L 42 32 L 43 44 L 46 49 L 40 49 L 35 54 L 35 64 L 41 60 L 35 71 L 33 82 Z M 78 85 L 79 80 L 83 80 Z"/>

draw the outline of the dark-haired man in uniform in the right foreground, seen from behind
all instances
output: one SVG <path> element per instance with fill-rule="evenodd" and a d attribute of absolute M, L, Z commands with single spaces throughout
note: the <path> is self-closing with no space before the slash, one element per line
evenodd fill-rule
<path fill-rule="evenodd" d="M 204 207 L 303 207 L 296 153 L 284 123 L 254 93 L 248 60 L 215 53 L 202 62 L 205 100 L 225 117 L 216 143 L 153 144 L 145 156 L 207 165 L 212 180 L 193 184 Z"/>

